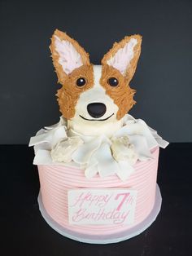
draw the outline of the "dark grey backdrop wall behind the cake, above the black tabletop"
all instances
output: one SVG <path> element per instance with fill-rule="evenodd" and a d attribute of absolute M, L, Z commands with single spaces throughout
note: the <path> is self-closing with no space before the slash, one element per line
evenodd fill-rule
<path fill-rule="evenodd" d="M 170 142 L 192 141 L 192 1 L 0 1 L 0 143 L 28 143 L 59 120 L 50 59 L 56 28 L 100 64 L 113 42 L 141 33 L 134 117 Z"/>

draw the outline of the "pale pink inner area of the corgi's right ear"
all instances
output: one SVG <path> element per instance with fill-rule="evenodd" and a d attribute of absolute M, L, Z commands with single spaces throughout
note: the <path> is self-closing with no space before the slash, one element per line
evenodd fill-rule
<path fill-rule="evenodd" d="M 120 50 L 118 50 L 110 60 L 107 60 L 107 64 L 118 69 L 120 73 L 124 75 L 131 60 L 133 59 L 133 49 L 136 45 L 137 39 L 131 38 L 131 40 L 127 42 L 123 48 L 120 48 Z"/>

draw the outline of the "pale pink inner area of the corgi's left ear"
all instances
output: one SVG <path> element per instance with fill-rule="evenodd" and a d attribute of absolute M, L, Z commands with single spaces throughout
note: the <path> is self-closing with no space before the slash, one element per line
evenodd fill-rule
<path fill-rule="evenodd" d="M 72 73 L 72 70 L 83 65 L 81 55 L 72 46 L 71 42 L 60 40 L 55 36 L 55 50 L 59 54 L 59 64 L 61 64 L 65 73 Z"/>

